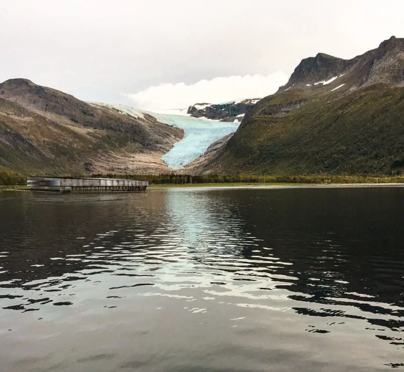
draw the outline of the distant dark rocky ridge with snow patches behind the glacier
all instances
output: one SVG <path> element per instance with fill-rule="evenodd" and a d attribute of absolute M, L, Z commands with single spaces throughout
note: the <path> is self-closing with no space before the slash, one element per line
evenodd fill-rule
<path fill-rule="evenodd" d="M 195 103 L 188 107 L 187 113 L 193 117 L 211 120 L 240 122 L 244 114 L 260 99 L 243 99 L 225 103 Z"/>

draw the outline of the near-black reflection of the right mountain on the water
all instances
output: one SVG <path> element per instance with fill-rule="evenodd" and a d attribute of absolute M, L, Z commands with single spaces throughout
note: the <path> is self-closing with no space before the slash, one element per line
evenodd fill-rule
<path fill-rule="evenodd" d="M 404 326 L 404 296 L 397 295 L 404 287 L 402 196 L 398 189 L 308 189 L 258 191 L 251 203 L 240 194 L 226 199 L 243 206 L 237 208 L 243 228 L 271 248 L 254 256 L 244 247 L 244 257 L 262 267 L 271 252 L 292 263 L 273 273 L 286 278 L 276 287 L 292 292 L 297 313 L 366 319 L 398 330 Z"/>

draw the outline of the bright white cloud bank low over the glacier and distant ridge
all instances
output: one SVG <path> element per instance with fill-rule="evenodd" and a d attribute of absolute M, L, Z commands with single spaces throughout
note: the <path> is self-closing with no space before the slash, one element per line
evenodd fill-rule
<path fill-rule="evenodd" d="M 286 84 L 288 75 L 217 77 L 194 84 L 160 84 L 135 94 L 127 94 L 136 107 L 146 110 L 185 108 L 197 102 L 218 103 L 241 98 L 265 97 Z"/>

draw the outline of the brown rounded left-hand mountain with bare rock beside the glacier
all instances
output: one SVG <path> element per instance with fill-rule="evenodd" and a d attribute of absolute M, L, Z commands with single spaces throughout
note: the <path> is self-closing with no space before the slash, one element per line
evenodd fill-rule
<path fill-rule="evenodd" d="M 0 167 L 24 174 L 156 173 L 183 137 L 142 113 L 89 104 L 27 79 L 0 83 Z"/>

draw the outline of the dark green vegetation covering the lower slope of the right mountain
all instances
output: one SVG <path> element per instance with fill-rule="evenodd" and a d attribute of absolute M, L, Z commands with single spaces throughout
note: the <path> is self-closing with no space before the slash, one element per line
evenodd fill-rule
<path fill-rule="evenodd" d="M 309 102 L 298 92 L 260 101 L 215 163 L 234 173 L 391 174 L 404 159 L 403 88 L 379 84 Z"/>

